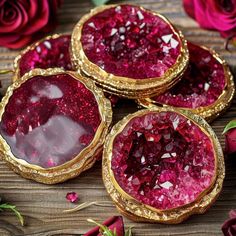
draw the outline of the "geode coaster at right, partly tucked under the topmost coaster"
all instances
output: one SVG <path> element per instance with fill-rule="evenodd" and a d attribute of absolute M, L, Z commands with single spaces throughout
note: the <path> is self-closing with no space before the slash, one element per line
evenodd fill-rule
<path fill-rule="evenodd" d="M 189 66 L 183 78 L 165 93 L 139 101 L 144 107 L 185 108 L 212 121 L 230 105 L 235 88 L 226 62 L 206 47 L 188 42 Z"/>

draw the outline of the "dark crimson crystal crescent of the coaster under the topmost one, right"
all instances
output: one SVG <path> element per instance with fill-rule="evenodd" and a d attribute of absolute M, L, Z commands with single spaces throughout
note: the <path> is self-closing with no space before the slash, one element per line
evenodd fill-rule
<path fill-rule="evenodd" d="M 190 62 L 181 81 L 154 97 L 158 103 L 175 107 L 209 106 L 222 94 L 226 82 L 224 68 L 206 49 L 188 42 Z"/>

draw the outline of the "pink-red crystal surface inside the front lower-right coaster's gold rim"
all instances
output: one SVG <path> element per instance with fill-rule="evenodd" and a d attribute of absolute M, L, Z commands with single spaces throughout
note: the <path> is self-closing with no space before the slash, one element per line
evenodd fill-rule
<path fill-rule="evenodd" d="M 211 140 L 174 112 L 129 121 L 113 142 L 111 168 L 125 192 L 161 210 L 196 200 L 216 171 Z"/>

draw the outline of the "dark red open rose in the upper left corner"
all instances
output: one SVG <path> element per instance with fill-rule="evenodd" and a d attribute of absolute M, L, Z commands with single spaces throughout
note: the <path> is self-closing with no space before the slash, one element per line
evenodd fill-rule
<path fill-rule="evenodd" d="M 56 25 L 61 0 L 0 0 L 0 46 L 21 48 Z"/>

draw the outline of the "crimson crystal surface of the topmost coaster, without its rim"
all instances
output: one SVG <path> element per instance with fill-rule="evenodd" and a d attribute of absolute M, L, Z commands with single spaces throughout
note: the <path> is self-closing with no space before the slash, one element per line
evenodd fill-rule
<path fill-rule="evenodd" d="M 108 73 L 134 79 L 162 76 L 180 54 L 180 42 L 163 19 L 121 5 L 84 23 L 81 42 L 88 59 Z"/>

